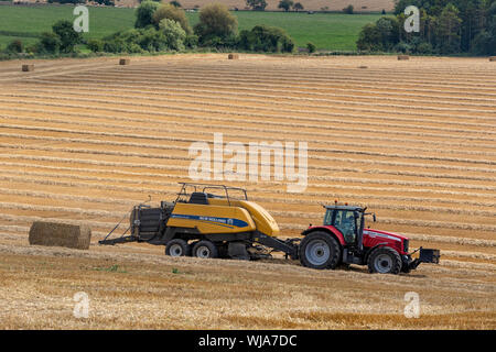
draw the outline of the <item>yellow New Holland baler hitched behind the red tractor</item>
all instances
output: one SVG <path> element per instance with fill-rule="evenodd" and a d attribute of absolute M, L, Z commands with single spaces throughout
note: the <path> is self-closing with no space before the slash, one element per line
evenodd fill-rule
<path fill-rule="evenodd" d="M 233 191 L 240 191 L 242 197 L 234 198 Z M 165 254 L 172 256 L 233 258 L 254 257 L 259 253 L 254 249 L 262 244 L 296 255 L 291 243 L 277 239 L 276 220 L 261 206 L 249 201 L 242 188 L 183 183 L 174 202 L 162 201 L 160 208 L 134 207 L 130 230 L 130 237 L 100 243 L 149 242 L 164 244 Z"/>

